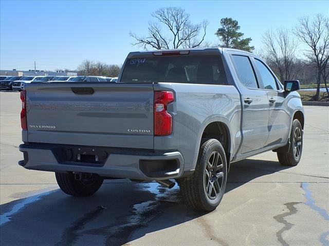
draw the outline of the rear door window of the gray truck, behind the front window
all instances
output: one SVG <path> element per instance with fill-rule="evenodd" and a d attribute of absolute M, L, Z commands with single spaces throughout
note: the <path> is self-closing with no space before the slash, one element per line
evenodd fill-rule
<path fill-rule="evenodd" d="M 241 83 L 248 88 L 258 88 L 257 80 L 249 57 L 242 55 L 232 55 L 235 65 L 235 71 L 239 76 Z"/>

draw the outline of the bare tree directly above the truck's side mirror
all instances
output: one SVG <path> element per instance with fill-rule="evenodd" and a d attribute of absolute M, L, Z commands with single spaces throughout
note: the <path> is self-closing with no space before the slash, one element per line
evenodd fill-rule
<path fill-rule="evenodd" d="M 263 35 L 264 51 L 267 60 L 275 67 L 280 80 L 295 79 L 297 42 L 285 28 L 275 32 L 267 30 Z M 294 71 L 295 70 L 295 71 Z"/>

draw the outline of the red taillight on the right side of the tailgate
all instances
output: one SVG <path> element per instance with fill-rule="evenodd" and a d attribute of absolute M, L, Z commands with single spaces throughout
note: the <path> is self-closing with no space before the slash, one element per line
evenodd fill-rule
<path fill-rule="evenodd" d="M 168 136 L 172 133 L 172 115 L 167 112 L 167 105 L 174 101 L 172 91 L 154 92 L 154 135 Z"/>

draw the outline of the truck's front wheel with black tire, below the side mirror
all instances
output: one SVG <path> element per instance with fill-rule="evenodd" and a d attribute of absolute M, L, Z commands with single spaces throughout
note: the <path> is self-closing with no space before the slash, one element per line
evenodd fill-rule
<path fill-rule="evenodd" d="M 283 166 L 297 166 L 302 156 L 303 130 L 298 119 L 294 119 L 290 132 L 290 146 L 288 152 L 277 152 L 279 162 Z"/>

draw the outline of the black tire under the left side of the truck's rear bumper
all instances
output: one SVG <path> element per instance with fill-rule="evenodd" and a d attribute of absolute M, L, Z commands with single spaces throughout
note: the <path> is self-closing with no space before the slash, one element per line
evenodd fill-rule
<path fill-rule="evenodd" d="M 72 173 L 55 173 L 61 190 L 71 196 L 91 196 L 101 187 L 103 178 L 91 174 L 89 179 L 76 180 Z"/>

